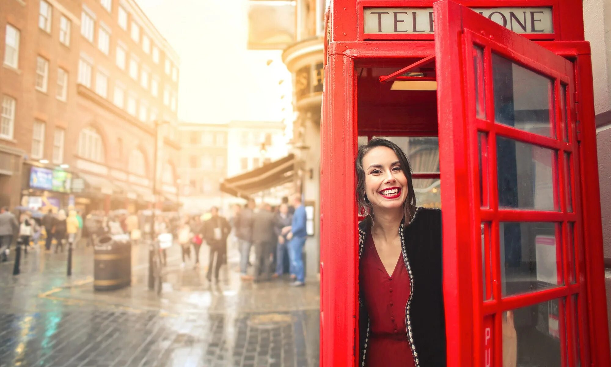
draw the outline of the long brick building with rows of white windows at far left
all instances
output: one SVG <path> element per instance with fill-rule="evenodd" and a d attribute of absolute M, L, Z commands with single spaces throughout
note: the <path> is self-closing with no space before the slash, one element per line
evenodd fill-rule
<path fill-rule="evenodd" d="M 2 1 L 0 40 L 0 204 L 149 207 L 155 151 L 177 202 L 180 61 L 136 2 Z"/>

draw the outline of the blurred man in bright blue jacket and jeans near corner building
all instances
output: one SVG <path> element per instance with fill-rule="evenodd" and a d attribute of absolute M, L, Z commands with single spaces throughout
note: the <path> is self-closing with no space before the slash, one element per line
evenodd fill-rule
<path fill-rule="evenodd" d="M 305 237 L 307 236 L 307 231 L 305 231 L 305 221 L 307 218 L 305 217 L 305 207 L 301 204 L 301 194 L 293 194 L 291 202 L 295 207 L 295 213 L 293 214 L 291 231 L 287 235 L 288 256 L 291 259 L 292 270 L 296 275 L 296 280 L 294 283 L 291 283 L 291 286 L 301 287 L 305 284 L 302 250 L 305 245 Z"/>

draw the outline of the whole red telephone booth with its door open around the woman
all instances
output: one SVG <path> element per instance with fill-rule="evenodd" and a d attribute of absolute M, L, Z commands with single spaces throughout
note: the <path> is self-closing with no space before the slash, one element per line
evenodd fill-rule
<path fill-rule="evenodd" d="M 328 18 L 321 365 L 360 362 L 354 158 L 386 136 L 442 207 L 448 366 L 502 366 L 509 310 L 518 366 L 611 366 L 581 1 L 334 0 Z"/>

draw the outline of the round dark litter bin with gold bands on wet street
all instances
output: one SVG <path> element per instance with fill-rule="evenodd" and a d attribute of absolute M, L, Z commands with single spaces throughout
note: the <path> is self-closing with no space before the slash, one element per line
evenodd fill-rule
<path fill-rule="evenodd" d="M 111 291 L 131 284 L 129 235 L 102 235 L 93 247 L 93 289 Z"/>

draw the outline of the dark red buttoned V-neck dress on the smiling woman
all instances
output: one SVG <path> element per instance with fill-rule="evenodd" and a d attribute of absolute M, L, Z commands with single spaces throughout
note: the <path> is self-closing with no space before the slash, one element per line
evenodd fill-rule
<path fill-rule="evenodd" d="M 405 306 L 411 287 L 403 256 L 399 255 L 389 276 L 368 234 L 359 266 L 361 294 L 369 314 L 365 366 L 414 366 L 405 327 Z"/>

